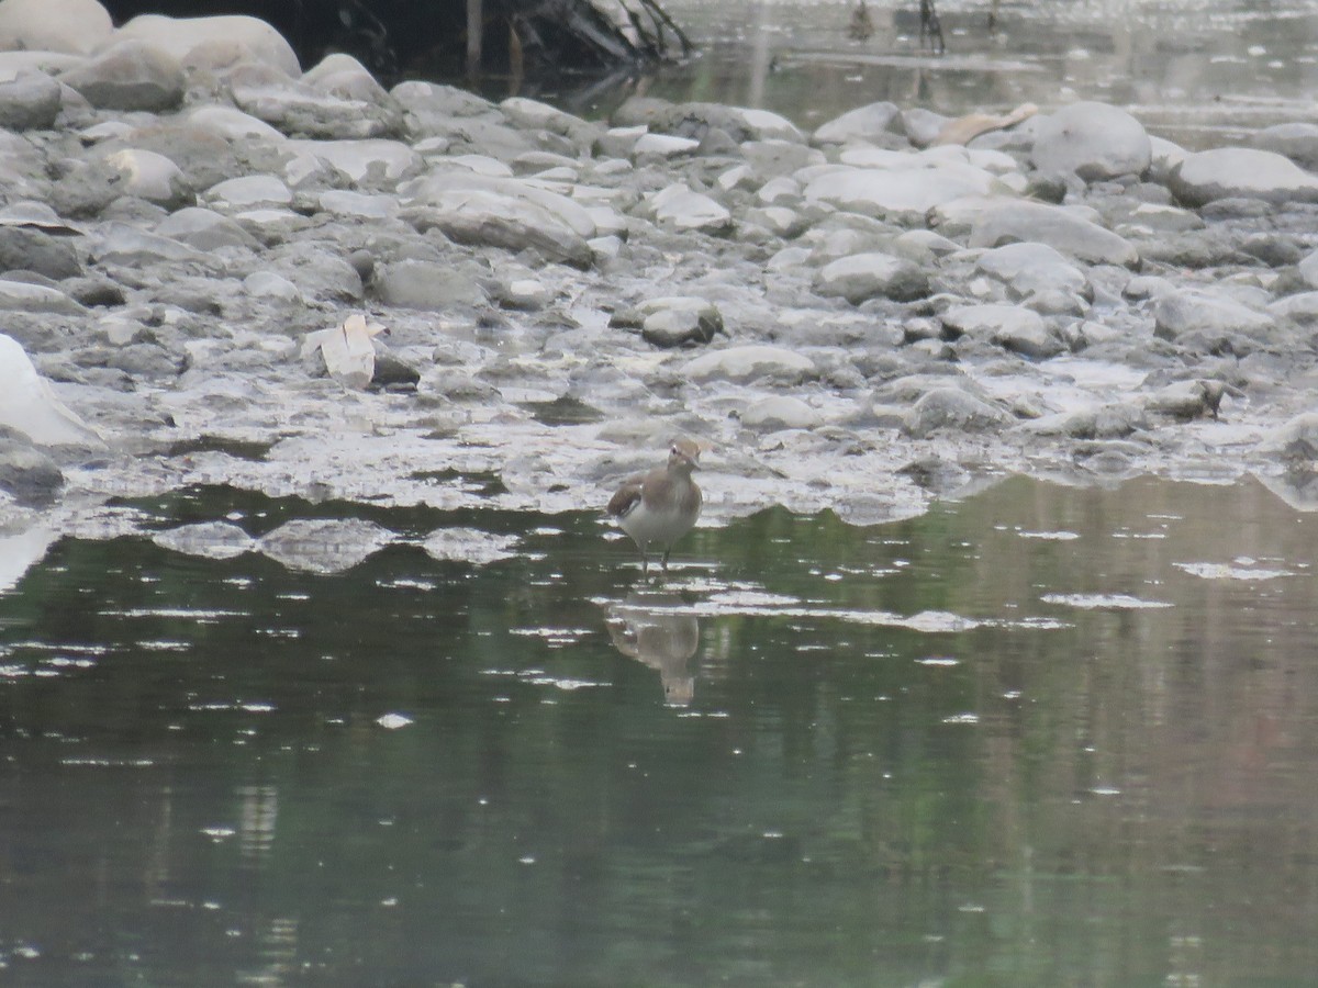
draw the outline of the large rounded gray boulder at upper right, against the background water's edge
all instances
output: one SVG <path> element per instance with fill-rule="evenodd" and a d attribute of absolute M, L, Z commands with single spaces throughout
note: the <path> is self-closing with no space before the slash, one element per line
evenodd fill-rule
<path fill-rule="evenodd" d="M 1044 174 L 1074 173 L 1086 182 L 1141 175 L 1152 161 L 1144 125 L 1124 109 L 1081 101 L 1036 124 L 1029 154 Z"/>

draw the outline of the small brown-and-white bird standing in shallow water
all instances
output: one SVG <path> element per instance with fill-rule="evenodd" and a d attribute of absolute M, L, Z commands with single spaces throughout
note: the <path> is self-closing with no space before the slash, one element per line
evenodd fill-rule
<path fill-rule="evenodd" d="M 650 570 L 650 547 L 663 549 L 663 572 L 668 572 L 668 553 L 700 518 L 702 498 L 691 480 L 700 469 L 700 447 L 691 439 L 679 439 L 668 449 L 668 462 L 648 473 L 629 477 L 609 499 L 614 518 L 641 549 L 641 576 Z"/>

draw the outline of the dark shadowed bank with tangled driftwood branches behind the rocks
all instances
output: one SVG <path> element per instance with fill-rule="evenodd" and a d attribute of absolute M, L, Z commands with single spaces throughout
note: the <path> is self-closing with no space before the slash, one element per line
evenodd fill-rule
<path fill-rule="evenodd" d="M 103 0 L 141 13 L 243 13 L 283 34 L 304 66 L 347 51 L 385 82 L 403 75 L 601 72 L 670 61 L 692 45 L 660 0 Z"/>

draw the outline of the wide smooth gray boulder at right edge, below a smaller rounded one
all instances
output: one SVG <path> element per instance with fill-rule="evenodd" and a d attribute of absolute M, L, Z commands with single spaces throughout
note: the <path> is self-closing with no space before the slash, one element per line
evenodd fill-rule
<path fill-rule="evenodd" d="M 1253 148 L 1217 148 L 1188 154 L 1172 169 L 1168 184 L 1172 194 L 1190 207 L 1217 199 L 1318 203 L 1318 175 L 1276 151 Z"/>

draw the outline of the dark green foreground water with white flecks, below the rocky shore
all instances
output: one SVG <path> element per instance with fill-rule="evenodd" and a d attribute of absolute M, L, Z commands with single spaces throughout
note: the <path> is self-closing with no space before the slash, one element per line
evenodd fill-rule
<path fill-rule="evenodd" d="M 1318 966 L 1318 522 L 1260 483 L 768 511 L 643 586 L 589 515 L 134 507 L 393 537 L 335 573 L 66 539 L 0 593 L 5 984 Z"/>

